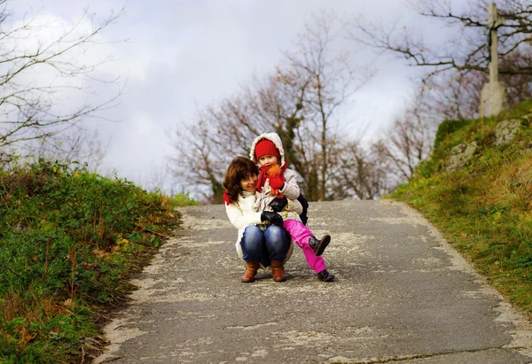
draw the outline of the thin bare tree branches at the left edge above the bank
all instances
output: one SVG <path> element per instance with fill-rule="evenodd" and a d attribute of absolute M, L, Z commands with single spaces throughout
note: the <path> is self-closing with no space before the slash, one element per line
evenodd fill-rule
<path fill-rule="evenodd" d="M 119 90 L 111 99 L 91 104 L 88 82 L 116 85 L 118 79 L 97 78 L 98 66 L 109 59 L 88 64 L 79 57 L 88 47 L 101 42 L 99 35 L 121 12 L 112 13 L 98 24 L 93 15 L 85 12 L 73 27 L 63 27 L 62 33 L 52 35 L 43 31 L 54 24 L 39 24 L 37 17 L 13 25 L 17 22 L 7 4 L 6 0 L 0 1 L 0 155 L 4 161 L 17 154 L 31 155 L 35 145 L 59 145 L 66 129 L 98 116 L 99 111 L 112 107 L 121 94 Z M 90 29 L 83 30 L 87 28 Z M 36 36 L 39 31 L 49 39 Z M 46 77 L 40 81 L 37 76 L 42 74 Z M 66 105 L 66 100 L 72 98 L 66 93 L 86 101 L 77 107 Z M 53 143 L 48 143 L 51 140 Z M 74 149 L 79 141 L 74 142 Z"/>

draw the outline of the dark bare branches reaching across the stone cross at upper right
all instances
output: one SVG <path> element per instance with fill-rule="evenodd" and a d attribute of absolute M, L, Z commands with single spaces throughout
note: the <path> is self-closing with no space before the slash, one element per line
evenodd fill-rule
<path fill-rule="evenodd" d="M 442 24 L 454 29 L 454 36 L 445 47 L 431 47 L 419 34 L 368 24 L 361 19 L 353 24 L 350 38 L 376 50 L 395 53 L 408 59 L 412 66 L 426 66 L 429 75 L 451 69 L 489 74 L 489 43 L 485 30 L 493 26 L 488 19 L 488 6 L 492 2 L 474 0 L 460 10 L 455 9 L 450 0 L 413 2 L 412 6 L 420 15 L 441 20 Z M 505 19 L 497 29 L 499 56 L 512 58 L 530 45 L 532 4 L 528 0 L 500 0 L 497 7 L 499 15 Z M 532 66 L 529 63 L 506 63 L 506 66 L 501 63 L 499 74 L 532 74 Z"/>

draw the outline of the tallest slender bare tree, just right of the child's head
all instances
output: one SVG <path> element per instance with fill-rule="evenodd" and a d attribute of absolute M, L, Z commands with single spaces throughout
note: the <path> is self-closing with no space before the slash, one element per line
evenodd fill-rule
<path fill-rule="evenodd" d="M 301 94 L 304 122 L 297 130 L 300 163 L 295 169 L 303 176 L 310 200 L 335 197 L 328 182 L 332 177 L 331 155 L 343 140 L 337 133 L 340 110 L 372 76 L 362 66 L 355 69 L 348 53 L 332 52 L 341 30 L 335 14 L 315 15 L 299 36 L 295 50 L 286 52 L 292 73 L 300 75 L 306 85 Z"/>

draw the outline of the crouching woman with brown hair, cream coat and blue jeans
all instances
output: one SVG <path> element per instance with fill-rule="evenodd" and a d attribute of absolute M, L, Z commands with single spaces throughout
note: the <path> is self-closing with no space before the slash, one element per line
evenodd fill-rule
<path fill-rule="evenodd" d="M 250 159 L 237 157 L 231 161 L 223 178 L 225 212 L 239 229 L 237 252 L 246 262 L 246 272 L 240 280 L 254 282 L 259 267 L 269 267 L 275 282 L 287 279 L 283 265 L 290 258 L 293 242 L 283 218 L 269 211 L 254 212 L 258 169 Z"/>

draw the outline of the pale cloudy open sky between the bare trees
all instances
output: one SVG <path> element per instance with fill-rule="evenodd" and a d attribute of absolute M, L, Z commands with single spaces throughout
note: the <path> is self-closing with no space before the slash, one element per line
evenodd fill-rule
<path fill-rule="evenodd" d="M 145 185 L 153 182 L 152 174 L 161 174 L 173 152 L 169 131 L 190 120 L 197 107 L 231 96 L 254 74 L 270 73 L 311 13 L 426 27 L 401 0 L 16 0 L 9 7 L 19 18 L 63 24 L 74 24 L 84 10 L 101 19 L 124 9 L 100 35 L 113 43 L 92 47 L 94 54 L 83 57 L 112 55 L 103 72 L 127 79 L 120 105 L 103 115 L 120 121 L 98 124 L 108 141 L 102 172 L 115 170 Z M 121 40 L 127 42 L 114 43 Z M 377 133 L 402 111 L 414 70 L 400 59 L 376 59 L 353 42 L 342 47 L 357 64 L 376 71 L 349 114 Z M 98 87 L 100 96 L 116 92 L 116 86 Z"/>

